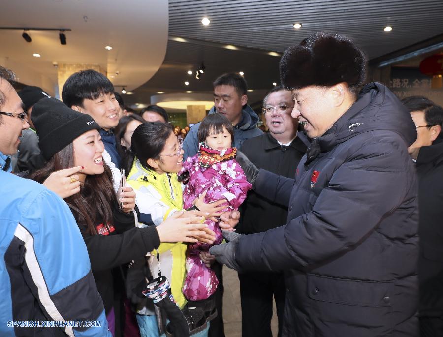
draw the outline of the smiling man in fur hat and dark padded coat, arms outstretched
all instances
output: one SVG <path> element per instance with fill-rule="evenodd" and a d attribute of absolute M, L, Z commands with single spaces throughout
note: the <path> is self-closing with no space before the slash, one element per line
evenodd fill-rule
<path fill-rule="evenodd" d="M 312 139 L 295 179 L 237 160 L 257 193 L 289 205 L 287 224 L 227 233 L 210 253 L 239 271 L 284 271 L 283 336 L 418 336 L 410 114 L 380 83 L 357 94 L 365 59 L 343 36 L 308 36 L 286 50 L 280 73 Z"/>

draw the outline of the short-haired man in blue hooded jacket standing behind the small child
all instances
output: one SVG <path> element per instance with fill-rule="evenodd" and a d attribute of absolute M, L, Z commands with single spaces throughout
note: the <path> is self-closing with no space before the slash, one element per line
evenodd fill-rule
<path fill-rule="evenodd" d="M 234 126 L 233 146 L 241 147 L 247 139 L 263 134 L 257 127 L 258 116 L 253 109 L 247 105 L 247 84 L 243 76 L 238 73 L 227 73 L 219 76 L 213 83 L 214 106 L 210 114 L 222 114 L 227 117 Z M 198 152 L 197 132 L 200 123 L 193 125 L 185 140 L 183 159 L 192 157 Z"/>

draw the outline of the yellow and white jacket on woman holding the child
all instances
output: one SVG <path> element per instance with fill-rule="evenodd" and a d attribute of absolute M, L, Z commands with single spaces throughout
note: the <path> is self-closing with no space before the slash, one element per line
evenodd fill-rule
<path fill-rule="evenodd" d="M 156 226 L 183 209 L 182 184 L 177 181 L 176 173 L 158 174 L 145 169 L 138 159 L 134 160 L 127 177 L 127 184 L 134 189 L 135 203 L 141 213 L 151 214 Z M 171 284 L 172 296 L 180 308 L 186 303 L 182 288 L 185 281 L 186 248 L 183 242 L 162 243 L 152 252 L 150 269 L 158 276 L 157 251 L 160 254 L 161 275 L 166 276 Z"/>

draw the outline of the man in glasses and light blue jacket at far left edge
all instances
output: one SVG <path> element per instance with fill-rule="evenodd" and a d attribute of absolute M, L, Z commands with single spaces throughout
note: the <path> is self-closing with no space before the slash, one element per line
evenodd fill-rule
<path fill-rule="evenodd" d="M 0 66 L 0 336 L 110 337 L 68 206 L 43 185 L 10 173 L 10 155 L 29 127 L 13 80 Z"/>

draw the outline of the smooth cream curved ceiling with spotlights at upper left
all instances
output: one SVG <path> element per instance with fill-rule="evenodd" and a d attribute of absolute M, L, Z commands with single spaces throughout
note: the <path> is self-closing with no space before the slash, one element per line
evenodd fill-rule
<path fill-rule="evenodd" d="M 20 82 L 54 94 L 53 62 L 99 64 L 117 88 L 125 86 L 129 91 L 148 81 L 163 62 L 168 1 L 2 1 L 0 26 L 72 30 L 65 32 L 64 46 L 59 31 L 29 31 L 32 42 L 28 43 L 23 31 L 0 30 L 0 64 L 14 70 Z M 108 52 L 105 46 L 113 49 Z"/>

